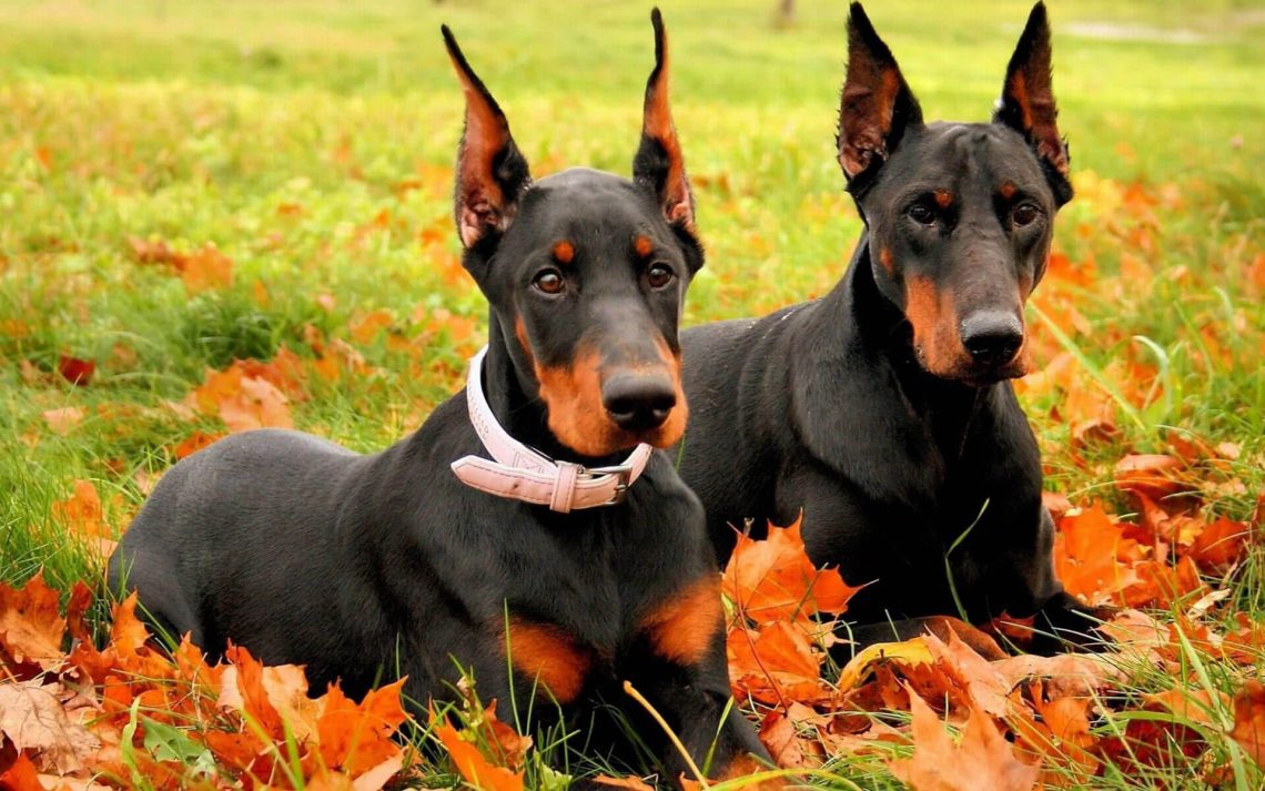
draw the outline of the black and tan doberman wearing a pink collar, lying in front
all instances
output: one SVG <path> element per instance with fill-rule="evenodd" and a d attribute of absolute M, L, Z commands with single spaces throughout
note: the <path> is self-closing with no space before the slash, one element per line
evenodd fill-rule
<path fill-rule="evenodd" d="M 374 456 L 259 430 L 188 457 L 124 535 L 113 586 L 213 654 L 231 640 L 306 664 L 312 688 L 362 694 L 406 675 L 425 706 L 452 699 L 464 668 L 484 699 L 536 696 L 536 716 L 596 732 L 605 701 L 681 777 L 627 681 L 705 772 L 768 761 L 730 705 L 702 506 L 650 447 L 684 429 L 677 324 L 703 262 L 651 19 L 632 180 L 572 168 L 533 181 L 444 28 L 467 103 L 457 228 L 491 304 L 467 390 Z"/>

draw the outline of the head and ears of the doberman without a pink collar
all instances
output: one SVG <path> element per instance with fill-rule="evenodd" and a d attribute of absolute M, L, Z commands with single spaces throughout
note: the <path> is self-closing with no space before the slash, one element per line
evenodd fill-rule
<path fill-rule="evenodd" d="M 874 280 L 935 376 L 984 385 L 1026 372 L 1023 304 L 1071 199 L 1055 115 L 1041 3 L 988 124 L 923 124 L 891 49 L 853 4 L 839 163 L 869 229 Z"/>

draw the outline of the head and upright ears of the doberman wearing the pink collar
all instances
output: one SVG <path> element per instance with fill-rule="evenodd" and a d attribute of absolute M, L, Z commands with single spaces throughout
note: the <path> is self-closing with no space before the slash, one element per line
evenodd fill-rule
<path fill-rule="evenodd" d="M 651 22 L 655 65 L 631 180 L 572 168 L 533 181 L 505 114 L 444 28 L 466 92 L 455 190 L 463 265 L 550 432 L 589 457 L 639 442 L 664 448 L 686 427 L 677 324 L 703 253 L 658 9 Z"/>

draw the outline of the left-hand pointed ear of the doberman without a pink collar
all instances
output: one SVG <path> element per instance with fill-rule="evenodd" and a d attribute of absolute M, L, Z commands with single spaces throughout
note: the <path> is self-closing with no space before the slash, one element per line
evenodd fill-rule
<path fill-rule="evenodd" d="M 848 77 L 839 103 L 839 165 L 851 182 L 877 170 L 922 108 L 860 3 L 848 14 Z"/>

